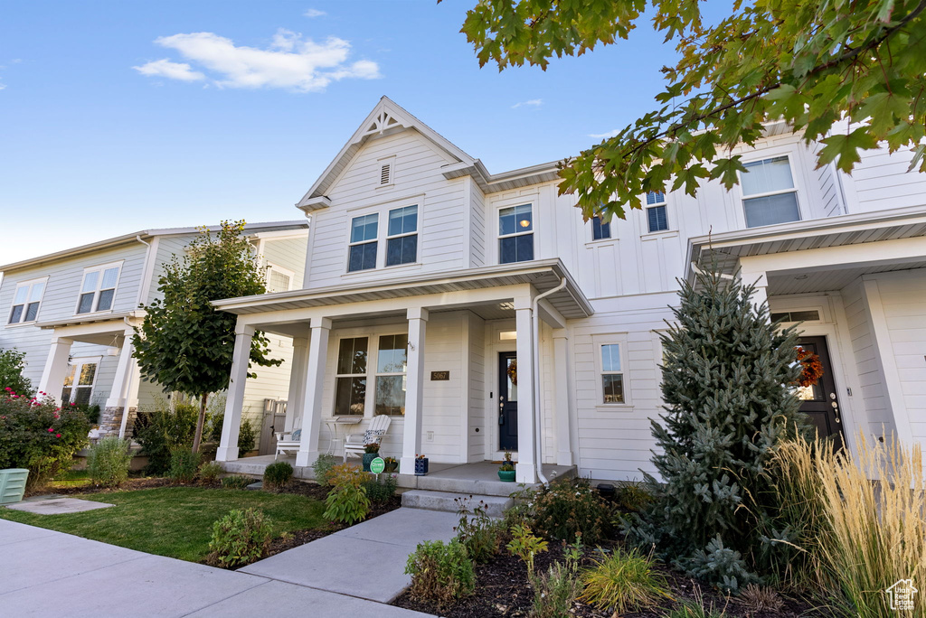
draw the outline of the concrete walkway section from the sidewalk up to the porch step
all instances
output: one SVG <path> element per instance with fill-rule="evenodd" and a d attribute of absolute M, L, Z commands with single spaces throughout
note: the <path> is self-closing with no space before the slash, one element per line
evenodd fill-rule
<path fill-rule="evenodd" d="M 388 603 L 411 584 L 408 554 L 423 540 L 450 540 L 458 521 L 456 513 L 397 509 L 239 572 Z"/>

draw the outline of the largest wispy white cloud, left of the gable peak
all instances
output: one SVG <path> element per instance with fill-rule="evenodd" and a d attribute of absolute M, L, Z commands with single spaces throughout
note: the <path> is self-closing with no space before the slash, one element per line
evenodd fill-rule
<path fill-rule="evenodd" d="M 380 77 L 379 65 L 371 60 L 348 63 L 350 43 L 337 37 L 315 43 L 303 39 L 301 34 L 280 29 L 267 49 L 235 45 L 231 39 L 213 32 L 162 36 L 155 43 L 177 50 L 196 68 L 207 71 L 212 83 L 219 88 L 285 88 L 309 93 L 324 90 L 332 81 Z M 193 71 L 186 63 L 168 60 L 135 68 L 144 75 L 178 80 L 206 78 L 206 74 Z M 168 68 L 175 74 L 168 74 Z M 191 77 L 193 75 L 200 77 Z"/>

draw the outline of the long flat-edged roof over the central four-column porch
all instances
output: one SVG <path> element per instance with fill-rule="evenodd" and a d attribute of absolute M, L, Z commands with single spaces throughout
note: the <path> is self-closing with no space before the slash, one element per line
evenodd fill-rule
<path fill-rule="evenodd" d="M 566 279 L 566 287 L 546 300 L 566 318 L 588 317 L 594 313 L 582 290 L 558 258 L 528 263 L 467 268 L 445 273 L 430 273 L 386 282 L 366 281 L 343 286 L 289 290 L 214 301 L 212 304 L 235 315 L 258 314 L 286 309 L 305 309 L 344 303 L 361 303 L 440 294 L 460 290 L 479 290 L 530 283 L 540 292 L 552 290 Z"/>

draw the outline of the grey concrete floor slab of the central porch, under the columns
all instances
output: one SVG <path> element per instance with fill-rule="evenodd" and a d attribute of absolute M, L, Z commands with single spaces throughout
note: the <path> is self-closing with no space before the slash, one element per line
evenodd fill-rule
<path fill-rule="evenodd" d="M 293 466 L 294 477 L 302 480 L 314 480 L 315 474 L 311 466 L 298 466 L 295 456 L 290 455 L 276 458 L 278 462 L 288 462 Z M 348 460 L 359 465 L 359 460 Z M 236 475 L 263 476 L 264 469 L 273 464 L 273 455 L 259 457 L 246 457 L 233 462 L 224 462 L 225 471 Z M 428 491 L 445 491 L 457 494 L 472 494 L 474 496 L 508 496 L 522 488 L 519 483 L 507 483 L 498 480 L 495 474 L 498 464 L 494 462 L 475 462 L 472 464 L 431 464 L 425 476 L 403 475 L 395 476 L 398 486 L 403 489 L 426 489 Z M 544 465 L 544 476 L 550 481 L 560 478 L 576 476 L 574 465 Z M 536 488 L 539 483 L 527 484 L 525 487 Z"/>

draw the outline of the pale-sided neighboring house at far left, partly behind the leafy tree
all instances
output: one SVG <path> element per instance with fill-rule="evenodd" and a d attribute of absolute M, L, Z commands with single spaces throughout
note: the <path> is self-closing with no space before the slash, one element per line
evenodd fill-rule
<path fill-rule="evenodd" d="M 131 357 L 132 329 L 144 319 L 140 307 L 158 297 L 164 265 L 197 233 L 148 229 L 0 266 L 0 349 L 26 353 L 25 376 L 33 388 L 59 402 L 98 403 L 102 433 L 124 433 L 126 406 L 131 410 L 164 396 L 160 387 L 139 379 Z M 251 224 L 244 233 L 268 268 L 269 290 L 301 286 L 307 221 Z M 273 336 L 271 343 L 274 357 L 289 365 L 289 338 Z M 265 400 L 286 399 L 289 369 L 260 367 L 256 373 L 244 415 L 259 430 L 265 407 L 269 414 L 279 407 L 265 406 Z M 270 432 L 264 434 L 266 442 Z"/>

